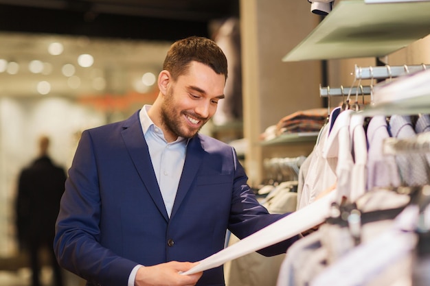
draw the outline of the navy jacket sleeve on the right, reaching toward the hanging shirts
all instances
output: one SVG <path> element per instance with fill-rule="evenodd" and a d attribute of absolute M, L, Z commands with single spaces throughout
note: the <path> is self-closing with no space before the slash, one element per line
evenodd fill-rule
<path fill-rule="evenodd" d="M 229 230 L 239 239 L 243 239 L 258 230 L 269 226 L 273 222 L 286 217 L 285 214 L 269 214 L 262 204 L 256 199 L 249 185 L 247 176 L 242 165 L 240 165 L 236 152 L 233 149 L 235 176 L 233 183 L 233 197 L 231 200 L 231 215 L 229 219 Z M 264 256 L 273 256 L 286 252 L 286 249 L 299 239 L 299 235 L 276 243 L 273 246 L 258 250 Z"/>

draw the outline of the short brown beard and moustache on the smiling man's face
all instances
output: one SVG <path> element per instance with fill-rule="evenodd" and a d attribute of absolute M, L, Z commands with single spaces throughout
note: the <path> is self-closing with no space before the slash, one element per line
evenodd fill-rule
<path fill-rule="evenodd" d="M 177 136 L 181 136 L 185 139 L 190 139 L 201 130 L 203 125 L 205 125 L 207 119 L 199 117 L 194 112 L 186 112 L 184 110 L 178 111 L 177 108 L 175 108 L 177 104 L 174 101 L 174 95 L 172 90 L 173 88 L 171 88 L 168 93 L 166 93 L 163 104 L 161 104 L 161 120 L 163 127 L 166 128 L 166 130 L 172 132 L 173 134 L 176 134 Z M 185 123 L 183 123 L 184 115 L 190 115 L 194 118 L 197 118 L 203 121 L 203 124 L 200 126 L 199 129 L 190 128 L 190 126 L 186 126 Z"/>

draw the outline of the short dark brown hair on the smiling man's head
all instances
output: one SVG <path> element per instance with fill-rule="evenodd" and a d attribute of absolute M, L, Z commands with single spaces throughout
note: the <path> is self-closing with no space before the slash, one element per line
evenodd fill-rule
<path fill-rule="evenodd" d="M 227 58 L 213 40 L 191 36 L 178 40 L 170 46 L 163 69 L 169 71 L 174 79 L 186 73 L 190 62 L 196 61 L 211 67 L 227 80 Z"/>

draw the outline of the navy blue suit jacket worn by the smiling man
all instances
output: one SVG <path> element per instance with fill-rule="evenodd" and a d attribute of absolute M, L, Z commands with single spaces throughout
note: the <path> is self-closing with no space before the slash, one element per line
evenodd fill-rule
<path fill-rule="evenodd" d="M 126 286 L 138 263 L 199 261 L 223 249 L 227 228 L 243 238 L 282 217 L 257 202 L 234 149 L 199 134 L 188 143 L 169 218 L 136 112 L 82 132 L 54 249 L 88 285 Z M 283 253 L 296 239 L 261 253 Z M 223 267 L 205 271 L 197 285 L 224 285 Z"/>

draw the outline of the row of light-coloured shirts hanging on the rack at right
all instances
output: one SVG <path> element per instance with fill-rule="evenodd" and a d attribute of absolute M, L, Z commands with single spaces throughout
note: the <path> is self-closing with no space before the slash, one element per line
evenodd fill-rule
<path fill-rule="evenodd" d="M 427 285 L 430 117 L 345 106 L 330 112 L 299 171 L 297 211 L 329 193 L 328 215 L 288 248 L 276 285 Z"/>

